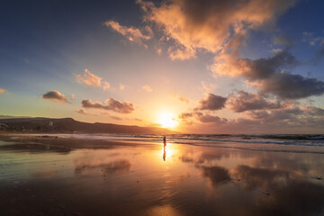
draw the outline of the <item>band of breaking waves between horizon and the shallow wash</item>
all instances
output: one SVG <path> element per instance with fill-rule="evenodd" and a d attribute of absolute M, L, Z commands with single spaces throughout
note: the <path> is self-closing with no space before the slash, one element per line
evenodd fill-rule
<path fill-rule="evenodd" d="M 161 142 L 162 137 L 152 134 L 50 134 L 61 138 L 97 139 L 97 140 L 125 140 Z M 220 145 L 221 143 L 260 144 L 260 145 L 284 145 L 284 146 L 309 146 L 324 147 L 324 135 L 322 134 L 173 134 L 166 136 L 170 143 L 191 145 Z"/>

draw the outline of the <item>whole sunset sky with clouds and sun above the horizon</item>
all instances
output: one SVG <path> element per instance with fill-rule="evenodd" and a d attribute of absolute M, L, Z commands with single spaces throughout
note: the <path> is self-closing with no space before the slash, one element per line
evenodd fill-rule
<path fill-rule="evenodd" d="M 0 115 L 323 133 L 320 0 L 3 1 Z"/>

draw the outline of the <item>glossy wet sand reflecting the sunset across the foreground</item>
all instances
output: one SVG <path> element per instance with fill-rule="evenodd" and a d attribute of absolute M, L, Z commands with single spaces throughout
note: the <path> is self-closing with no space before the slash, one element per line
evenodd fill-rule
<path fill-rule="evenodd" d="M 0 215 L 324 215 L 323 177 L 317 153 L 0 137 Z"/>

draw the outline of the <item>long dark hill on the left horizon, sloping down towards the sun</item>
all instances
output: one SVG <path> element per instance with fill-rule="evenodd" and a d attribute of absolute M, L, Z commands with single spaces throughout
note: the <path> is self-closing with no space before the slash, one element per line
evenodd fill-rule
<path fill-rule="evenodd" d="M 9 118 L 0 119 L 0 130 L 15 132 L 85 132 L 85 133 L 129 133 L 171 134 L 174 131 L 157 127 L 139 127 L 112 123 L 86 123 L 72 118 Z"/>

